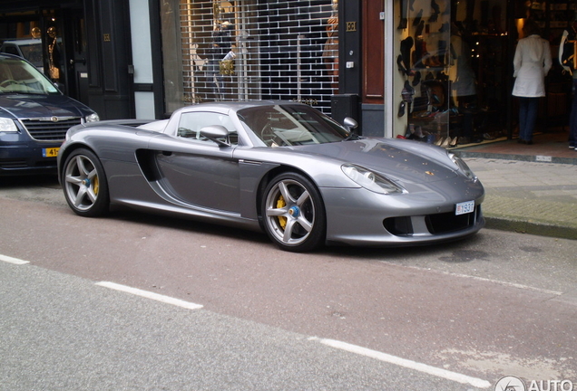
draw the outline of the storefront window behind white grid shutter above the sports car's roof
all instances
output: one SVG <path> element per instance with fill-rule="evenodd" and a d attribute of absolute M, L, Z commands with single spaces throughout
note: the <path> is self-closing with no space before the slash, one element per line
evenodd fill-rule
<path fill-rule="evenodd" d="M 166 111 L 226 100 L 295 100 L 329 113 L 337 0 L 166 0 Z"/>

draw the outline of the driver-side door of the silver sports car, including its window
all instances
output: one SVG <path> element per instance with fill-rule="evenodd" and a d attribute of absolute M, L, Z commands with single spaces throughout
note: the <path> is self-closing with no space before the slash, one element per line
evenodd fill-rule
<path fill-rule="evenodd" d="M 169 195 L 192 207 L 240 213 L 239 162 L 232 157 L 236 145 L 219 147 L 202 137 L 200 129 L 209 125 L 236 134 L 225 114 L 185 112 L 176 137 L 152 139 L 159 183 Z"/>

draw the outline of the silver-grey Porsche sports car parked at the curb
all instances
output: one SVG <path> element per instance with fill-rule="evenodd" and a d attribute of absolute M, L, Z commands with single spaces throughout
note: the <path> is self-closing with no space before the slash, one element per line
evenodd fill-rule
<path fill-rule="evenodd" d="M 58 155 L 67 203 L 262 230 L 283 250 L 449 241 L 484 225 L 465 162 L 423 142 L 364 138 L 287 101 L 204 103 L 171 119 L 85 123 Z"/>

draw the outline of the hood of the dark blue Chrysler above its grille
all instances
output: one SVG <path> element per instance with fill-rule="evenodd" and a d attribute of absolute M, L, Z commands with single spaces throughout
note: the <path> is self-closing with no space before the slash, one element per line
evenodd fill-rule
<path fill-rule="evenodd" d="M 86 117 L 93 111 L 65 95 L 0 95 L 0 115 L 15 119 L 42 117 Z"/>

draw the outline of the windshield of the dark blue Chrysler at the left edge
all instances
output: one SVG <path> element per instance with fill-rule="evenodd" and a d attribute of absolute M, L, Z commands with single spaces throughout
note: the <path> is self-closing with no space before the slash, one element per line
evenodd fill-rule
<path fill-rule="evenodd" d="M 17 58 L 0 59 L 0 93 L 59 93 L 54 84 L 28 62 Z"/>

